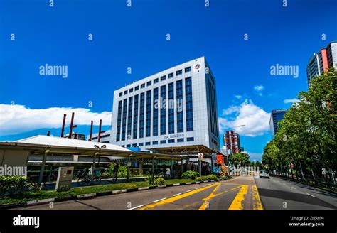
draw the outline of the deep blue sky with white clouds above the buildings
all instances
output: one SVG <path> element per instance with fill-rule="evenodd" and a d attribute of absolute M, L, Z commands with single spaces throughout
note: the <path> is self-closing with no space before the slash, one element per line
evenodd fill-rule
<path fill-rule="evenodd" d="M 309 58 L 337 40 L 336 10 L 333 0 L 1 0 L 0 141 L 58 136 L 72 110 L 76 131 L 88 134 L 90 119 L 109 129 L 115 89 L 205 55 L 220 129 L 245 122 L 242 146 L 259 159 L 271 138 L 267 116 L 307 90 Z M 67 65 L 68 77 L 39 75 L 46 63 Z M 298 66 L 299 77 L 270 75 L 276 64 Z"/>

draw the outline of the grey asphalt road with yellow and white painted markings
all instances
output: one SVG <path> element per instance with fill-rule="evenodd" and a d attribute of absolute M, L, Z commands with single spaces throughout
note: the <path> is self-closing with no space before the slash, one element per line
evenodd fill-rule
<path fill-rule="evenodd" d="M 281 178 L 231 180 L 55 202 L 21 210 L 336 210 L 331 193 Z"/>

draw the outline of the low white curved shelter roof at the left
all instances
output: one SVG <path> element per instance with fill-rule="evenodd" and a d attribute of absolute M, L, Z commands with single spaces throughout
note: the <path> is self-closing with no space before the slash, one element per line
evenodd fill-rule
<path fill-rule="evenodd" d="M 95 148 L 97 146 L 98 148 Z M 105 148 L 102 148 L 105 146 Z M 181 160 L 181 156 L 164 153 L 135 152 L 111 143 L 38 135 L 18 141 L 0 142 L 0 166 L 26 166 L 29 155 L 82 155 L 119 158 L 156 158 Z"/>

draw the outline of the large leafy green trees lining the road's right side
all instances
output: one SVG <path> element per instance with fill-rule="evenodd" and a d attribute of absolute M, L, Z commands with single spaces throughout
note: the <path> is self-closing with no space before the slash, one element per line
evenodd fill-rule
<path fill-rule="evenodd" d="M 294 164 L 296 174 L 315 179 L 322 168 L 334 182 L 336 173 L 336 83 L 337 71 L 328 70 L 315 77 L 308 92 L 300 92 L 279 121 L 279 131 L 264 147 L 262 163 L 271 170 L 288 170 Z M 291 170 L 292 171 L 292 170 Z"/>

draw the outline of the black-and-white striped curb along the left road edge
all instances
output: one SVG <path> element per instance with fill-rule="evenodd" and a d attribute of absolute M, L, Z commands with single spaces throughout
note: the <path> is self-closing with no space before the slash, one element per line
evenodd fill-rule
<path fill-rule="evenodd" d="M 213 180 L 213 181 L 215 181 L 215 180 Z M 156 188 L 168 188 L 168 187 L 174 187 L 174 186 L 179 186 L 179 185 L 201 184 L 201 183 L 208 183 L 208 182 L 213 182 L 213 181 L 212 180 L 203 180 L 203 181 L 186 182 L 186 183 L 174 183 L 174 184 L 169 184 L 169 185 L 146 186 L 146 187 L 141 187 L 141 188 L 127 188 L 127 189 L 124 189 L 124 190 L 104 191 L 104 192 L 99 192 L 99 193 L 85 193 L 85 194 L 79 194 L 79 195 L 68 195 L 68 196 L 63 196 L 63 197 L 55 197 L 55 198 L 48 198 L 48 199 L 41 199 L 41 200 L 29 200 L 29 201 L 26 201 L 26 202 L 18 202 L 18 203 L 15 203 L 15 204 L 0 205 L 0 210 L 26 207 L 26 206 L 33 206 L 33 205 L 43 205 L 43 204 L 48 204 L 49 202 L 64 202 L 64 201 L 68 201 L 68 200 L 85 200 L 85 199 L 92 199 L 92 198 L 95 198 L 95 197 L 102 197 L 102 196 L 106 196 L 106 195 L 116 195 L 116 194 L 120 194 L 120 193 L 131 193 L 131 192 L 137 192 L 137 191 L 141 191 L 141 190 L 151 190 L 151 189 L 156 189 Z"/>

